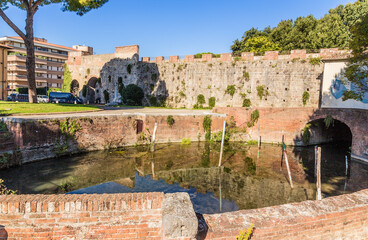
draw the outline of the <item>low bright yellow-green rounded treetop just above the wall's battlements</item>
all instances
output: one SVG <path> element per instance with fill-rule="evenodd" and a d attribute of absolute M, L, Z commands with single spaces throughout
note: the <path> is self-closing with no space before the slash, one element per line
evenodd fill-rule
<path fill-rule="evenodd" d="M 266 36 L 258 36 L 248 39 L 244 45 L 244 52 L 254 52 L 256 54 L 262 54 L 265 51 L 275 51 L 280 50 L 281 48 L 270 41 L 270 39 Z"/>

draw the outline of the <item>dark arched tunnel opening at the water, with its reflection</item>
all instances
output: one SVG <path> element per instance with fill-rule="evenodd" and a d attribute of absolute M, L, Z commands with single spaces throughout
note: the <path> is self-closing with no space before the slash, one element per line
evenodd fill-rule
<path fill-rule="evenodd" d="M 327 116 L 308 122 L 300 139 L 304 146 L 295 147 L 293 150 L 295 157 L 303 165 L 308 181 L 314 184 L 315 146 L 321 147 L 321 181 L 324 196 L 344 194 L 355 187 L 353 181 L 349 185 L 352 137 L 352 131 L 347 124 Z"/>

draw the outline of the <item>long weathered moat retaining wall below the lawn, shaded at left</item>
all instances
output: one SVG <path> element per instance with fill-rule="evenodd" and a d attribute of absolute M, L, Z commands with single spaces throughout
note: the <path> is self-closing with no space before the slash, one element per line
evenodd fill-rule
<path fill-rule="evenodd" d="M 14 136 L 18 149 L 18 164 L 59 157 L 65 154 L 111 149 L 134 144 L 148 144 L 155 123 L 156 142 L 181 142 L 183 138 L 204 139 L 202 122 L 207 114 L 173 115 L 169 126 L 168 114 L 107 114 L 90 116 L 77 114 L 68 119 L 43 117 L 34 119 L 3 118 Z M 212 130 L 222 128 L 225 115 L 209 114 Z M 64 126 L 63 132 L 61 126 Z M 76 130 L 73 133 L 73 129 Z"/>

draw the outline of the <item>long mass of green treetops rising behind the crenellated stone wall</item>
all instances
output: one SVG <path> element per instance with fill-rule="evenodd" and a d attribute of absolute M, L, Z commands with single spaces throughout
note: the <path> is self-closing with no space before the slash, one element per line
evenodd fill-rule
<path fill-rule="evenodd" d="M 368 0 L 359 0 L 355 3 L 339 5 L 330 9 L 321 19 L 312 15 L 298 17 L 295 20 L 282 20 L 274 27 L 266 27 L 263 30 L 251 28 L 243 34 L 242 38 L 236 39 L 231 46 L 234 55 L 248 52 L 249 45 L 254 45 L 255 37 L 263 39 L 267 46 L 277 46 L 279 50 L 292 49 L 320 49 L 320 48 L 345 48 L 352 39 L 350 30 L 359 19 L 368 14 Z M 260 38 L 257 38 L 259 40 Z M 249 42 L 248 42 L 249 41 Z M 247 43 L 248 42 L 248 43 Z M 268 51 L 266 46 L 257 45 L 254 52 Z"/>

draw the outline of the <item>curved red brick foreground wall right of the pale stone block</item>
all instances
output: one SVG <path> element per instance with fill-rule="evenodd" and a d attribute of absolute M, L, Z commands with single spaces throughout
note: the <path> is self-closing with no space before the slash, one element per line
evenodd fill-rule
<path fill-rule="evenodd" d="M 252 240 L 368 239 L 368 190 L 254 210 L 204 215 L 206 239 L 236 239 L 255 225 Z"/>

